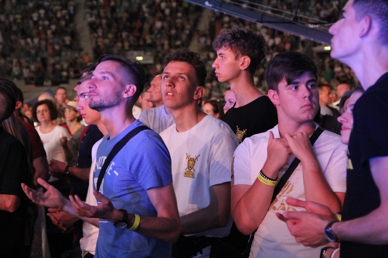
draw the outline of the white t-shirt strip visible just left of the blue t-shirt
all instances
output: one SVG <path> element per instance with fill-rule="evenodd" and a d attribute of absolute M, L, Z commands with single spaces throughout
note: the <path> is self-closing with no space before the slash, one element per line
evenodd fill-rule
<path fill-rule="evenodd" d="M 90 167 L 90 173 L 89 173 L 89 187 L 88 187 L 88 193 L 86 195 L 85 203 L 97 206 L 97 200 L 93 195 L 93 170 L 94 166 L 96 165 L 96 153 L 98 145 L 101 143 L 102 138 L 98 140 L 96 143 L 94 143 L 92 148 L 92 166 Z M 82 233 L 83 238 L 80 239 L 80 246 L 82 250 L 82 256 L 84 256 L 87 252 L 90 252 L 94 255 L 96 250 L 96 244 L 97 244 L 97 238 L 98 238 L 98 228 L 84 222 L 82 227 Z"/>

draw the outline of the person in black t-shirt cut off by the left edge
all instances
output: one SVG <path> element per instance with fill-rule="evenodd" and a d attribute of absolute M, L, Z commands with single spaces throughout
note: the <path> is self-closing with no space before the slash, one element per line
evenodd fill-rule
<path fill-rule="evenodd" d="M 0 257 L 22 257 L 27 200 L 20 184 L 27 183 L 27 153 L 2 125 L 16 105 L 15 93 L 4 82 L 0 82 L 0 103 Z"/>

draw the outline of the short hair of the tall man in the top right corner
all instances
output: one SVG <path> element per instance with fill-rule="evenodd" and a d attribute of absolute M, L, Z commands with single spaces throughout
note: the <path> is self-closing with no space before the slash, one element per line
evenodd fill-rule
<path fill-rule="evenodd" d="M 384 46 L 388 45 L 388 2 L 386 0 L 354 0 L 353 9 L 356 20 L 360 21 L 369 15 L 378 21 L 379 39 Z"/>

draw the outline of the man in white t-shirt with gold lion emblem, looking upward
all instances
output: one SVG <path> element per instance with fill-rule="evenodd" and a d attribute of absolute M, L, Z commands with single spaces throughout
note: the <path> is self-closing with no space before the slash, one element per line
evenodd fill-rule
<path fill-rule="evenodd" d="M 162 96 L 175 125 L 160 135 L 171 155 L 181 218 L 181 237 L 173 245 L 172 257 L 184 257 L 184 252 L 209 257 L 211 241 L 227 236 L 232 223 L 230 168 L 238 143 L 226 123 L 199 108 L 205 78 L 206 67 L 197 53 L 182 50 L 164 60 Z M 198 249 L 187 253 L 194 241 Z"/>

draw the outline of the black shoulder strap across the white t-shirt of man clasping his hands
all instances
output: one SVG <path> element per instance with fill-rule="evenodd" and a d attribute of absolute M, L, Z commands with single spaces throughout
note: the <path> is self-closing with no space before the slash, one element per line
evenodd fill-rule
<path fill-rule="evenodd" d="M 316 139 L 318 139 L 318 137 L 320 137 L 321 133 L 324 130 L 325 129 L 323 129 L 321 126 L 316 128 L 316 130 L 314 131 L 314 133 L 310 137 L 311 146 L 314 145 Z M 295 158 L 291 162 L 290 166 L 287 168 L 284 175 L 279 179 L 275 189 L 273 190 L 271 203 L 273 202 L 273 200 L 275 200 L 276 196 L 280 193 L 280 190 L 286 185 L 287 180 L 290 178 L 291 174 L 294 172 L 294 170 L 299 165 L 299 163 L 300 163 L 300 160 Z M 257 229 L 251 234 L 249 241 L 248 241 L 248 245 L 246 246 L 245 250 L 243 251 L 243 254 L 242 254 L 243 257 L 249 257 L 249 253 L 251 251 L 251 246 L 252 246 L 253 239 L 255 238 L 256 231 L 257 231 Z"/>

